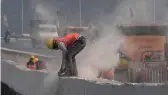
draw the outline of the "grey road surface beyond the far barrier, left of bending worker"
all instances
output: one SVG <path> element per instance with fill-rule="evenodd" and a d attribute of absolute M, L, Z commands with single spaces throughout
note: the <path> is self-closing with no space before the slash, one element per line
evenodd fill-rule
<path fill-rule="evenodd" d="M 34 52 L 38 54 L 50 55 L 50 56 L 60 56 L 60 51 L 54 51 L 47 48 L 36 49 L 32 48 L 30 40 L 11 40 L 10 44 L 5 44 L 4 41 L 1 41 L 1 47 L 10 48 L 14 50 Z"/>

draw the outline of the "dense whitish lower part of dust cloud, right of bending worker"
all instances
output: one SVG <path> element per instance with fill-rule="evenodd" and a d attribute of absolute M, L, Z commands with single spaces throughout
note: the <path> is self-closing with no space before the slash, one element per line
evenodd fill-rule
<path fill-rule="evenodd" d="M 101 70 L 114 70 L 118 65 L 117 51 L 122 42 L 120 37 L 109 35 L 101 38 L 94 45 L 86 47 L 81 54 L 83 58 L 78 68 L 79 76 L 96 78 Z"/>

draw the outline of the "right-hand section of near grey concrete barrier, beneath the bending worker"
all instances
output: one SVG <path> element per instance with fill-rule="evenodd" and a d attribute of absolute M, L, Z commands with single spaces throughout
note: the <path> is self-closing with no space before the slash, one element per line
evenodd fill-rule
<path fill-rule="evenodd" d="M 167 84 L 131 84 L 115 81 L 60 79 L 56 95 L 167 95 Z"/>

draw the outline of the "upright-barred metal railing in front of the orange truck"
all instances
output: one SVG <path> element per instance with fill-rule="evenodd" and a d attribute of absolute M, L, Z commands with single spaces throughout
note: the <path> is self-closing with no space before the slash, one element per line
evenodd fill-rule
<path fill-rule="evenodd" d="M 130 82 L 167 83 L 168 67 L 165 61 L 138 62 L 128 64 L 128 77 Z"/>

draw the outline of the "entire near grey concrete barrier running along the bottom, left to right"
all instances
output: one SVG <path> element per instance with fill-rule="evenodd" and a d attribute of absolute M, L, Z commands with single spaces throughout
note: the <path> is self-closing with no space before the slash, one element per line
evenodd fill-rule
<path fill-rule="evenodd" d="M 51 72 L 30 71 L 24 66 L 2 61 L 2 81 L 24 95 L 168 95 L 168 84 L 51 78 L 50 75 L 55 76 Z"/>

